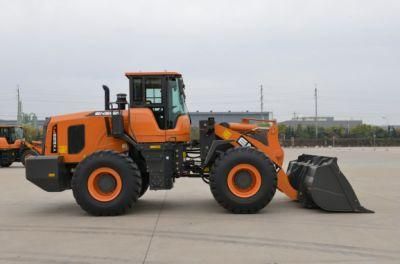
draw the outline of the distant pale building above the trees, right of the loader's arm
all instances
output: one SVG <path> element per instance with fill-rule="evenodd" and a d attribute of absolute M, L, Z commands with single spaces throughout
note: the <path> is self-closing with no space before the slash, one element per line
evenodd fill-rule
<path fill-rule="evenodd" d="M 296 128 L 301 125 L 305 126 L 315 126 L 315 117 L 295 117 L 292 120 L 280 122 L 280 124 L 286 125 L 288 127 Z M 353 128 L 355 126 L 362 125 L 362 120 L 335 120 L 334 117 L 318 117 L 318 127 L 344 127 L 347 129 Z"/>

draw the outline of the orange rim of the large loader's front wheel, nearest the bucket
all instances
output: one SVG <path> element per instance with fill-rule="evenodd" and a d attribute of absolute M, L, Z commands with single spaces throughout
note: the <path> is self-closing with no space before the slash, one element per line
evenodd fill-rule
<path fill-rule="evenodd" d="M 240 178 L 245 178 L 245 186 L 238 184 Z M 243 181 L 243 179 L 242 179 Z M 229 190 L 240 198 L 255 195 L 261 187 L 261 174 L 256 167 L 250 164 L 239 164 L 231 169 L 227 178 Z"/>

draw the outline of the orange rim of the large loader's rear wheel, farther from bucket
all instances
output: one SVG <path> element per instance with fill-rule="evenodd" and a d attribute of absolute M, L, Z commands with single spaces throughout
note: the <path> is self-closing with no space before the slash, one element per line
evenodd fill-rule
<path fill-rule="evenodd" d="M 108 190 L 101 186 L 101 181 L 107 180 L 111 183 Z M 110 185 L 110 184 L 109 184 Z M 114 200 L 122 190 L 122 180 L 118 172 L 111 168 L 98 168 L 88 178 L 89 194 L 100 202 Z"/>

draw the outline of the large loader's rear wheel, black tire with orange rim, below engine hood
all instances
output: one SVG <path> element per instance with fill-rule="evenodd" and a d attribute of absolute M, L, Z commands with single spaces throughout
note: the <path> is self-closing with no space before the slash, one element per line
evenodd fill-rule
<path fill-rule="evenodd" d="M 120 215 L 137 201 L 142 186 L 133 160 L 114 151 L 98 151 L 81 161 L 72 177 L 76 202 L 91 215 Z"/>

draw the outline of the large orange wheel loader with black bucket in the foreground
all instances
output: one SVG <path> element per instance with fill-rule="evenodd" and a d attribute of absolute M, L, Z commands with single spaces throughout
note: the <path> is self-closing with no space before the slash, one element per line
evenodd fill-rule
<path fill-rule="evenodd" d="M 185 85 L 177 72 L 128 72 L 129 97 L 104 110 L 53 116 L 41 155 L 26 161 L 26 178 L 48 192 L 72 189 L 92 215 L 119 215 L 150 190 L 172 189 L 182 177 L 201 178 L 233 213 L 263 209 L 276 190 L 307 208 L 372 212 L 360 205 L 337 159 L 302 155 L 283 169 L 275 120 L 199 122 L 191 140 Z M 262 124 L 262 125 L 261 125 Z"/>

